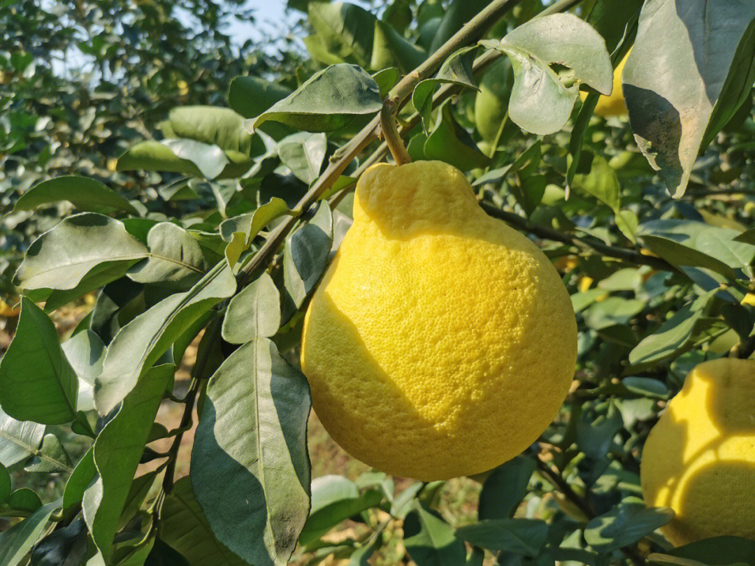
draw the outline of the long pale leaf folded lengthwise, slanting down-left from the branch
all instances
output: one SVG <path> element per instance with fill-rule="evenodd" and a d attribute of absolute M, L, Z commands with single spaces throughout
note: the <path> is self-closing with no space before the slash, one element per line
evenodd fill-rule
<path fill-rule="evenodd" d="M 220 300 L 236 292 L 236 278 L 221 261 L 185 293 L 172 294 L 125 325 L 110 343 L 94 402 L 108 414 L 137 384 L 140 376 L 187 328 Z"/>

